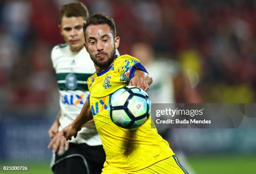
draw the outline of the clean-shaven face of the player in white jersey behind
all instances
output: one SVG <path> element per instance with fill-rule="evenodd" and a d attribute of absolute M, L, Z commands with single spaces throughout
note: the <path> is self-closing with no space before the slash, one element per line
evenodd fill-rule
<path fill-rule="evenodd" d="M 79 51 L 83 47 L 83 17 L 66 17 L 61 20 L 59 29 L 64 40 L 69 44 L 71 51 Z"/>

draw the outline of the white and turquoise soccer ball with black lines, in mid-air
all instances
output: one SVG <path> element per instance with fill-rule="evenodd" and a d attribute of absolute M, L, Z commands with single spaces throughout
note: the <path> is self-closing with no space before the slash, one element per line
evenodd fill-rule
<path fill-rule="evenodd" d="M 122 87 L 110 95 L 108 114 L 122 128 L 138 128 L 148 120 L 150 113 L 151 101 L 147 93 L 138 87 Z"/>

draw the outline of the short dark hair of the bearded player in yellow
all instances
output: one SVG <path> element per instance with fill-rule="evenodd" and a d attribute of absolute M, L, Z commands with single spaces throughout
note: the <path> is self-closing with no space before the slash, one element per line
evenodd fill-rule
<path fill-rule="evenodd" d="M 86 41 L 86 38 L 85 38 L 86 28 L 90 25 L 101 25 L 101 24 L 107 24 L 110 27 L 110 29 L 112 31 L 112 34 L 115 38 L 115 36 L 116 36 L 115 21 L 112 18 L 109 18 L 107 15 L 105 15 L 103 13 L 96 13 L 94 15 L 91 15 L 86 20 L 86 23 L 83 23 L 85 41 Z"/>

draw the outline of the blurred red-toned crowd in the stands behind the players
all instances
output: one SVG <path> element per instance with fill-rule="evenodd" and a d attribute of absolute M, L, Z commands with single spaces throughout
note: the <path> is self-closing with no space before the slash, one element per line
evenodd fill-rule
<path fill-rule="evenodd" d="M 81 1 L 115 20 L 120 54 L 138 41 L 150 44 L 156 59 L 179 63 L 202 102 L 256 102 L 256 1 Z M 50 53 L 64 43 L 58 14 L 68 2 L 0 1 L 2 113 L 58 110 Z"/>

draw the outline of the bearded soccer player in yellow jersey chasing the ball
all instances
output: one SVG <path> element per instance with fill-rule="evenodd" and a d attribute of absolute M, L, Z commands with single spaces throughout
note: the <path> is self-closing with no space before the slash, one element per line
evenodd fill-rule
<path fill-rule="evenodd" d="M 93 116 L 106 153 L 102 174 L 188 174 L 169 144 L 151 128 L 151 118 L 134 130 L 120 128 L 111 121 L 107 111 L 109 95 L 128 84 L 147 91 L 152 78 L 138 59 L 115 56 L 120 38 L 113 19 L 95 14 L 87 19 L 83 29 L 84 46 L 96 72 L 87 80 L 90 99 L 63 130 L 63 139 L 75 137 Z"/>

